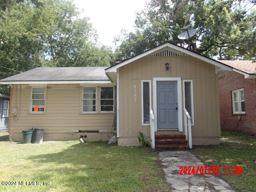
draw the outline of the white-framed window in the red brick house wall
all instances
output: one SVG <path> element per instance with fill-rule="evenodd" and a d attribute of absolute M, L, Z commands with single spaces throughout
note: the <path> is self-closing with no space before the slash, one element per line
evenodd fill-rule
<path fill-rule="evenodd" d="M 244 89 L 232 91 L 233 113 L 245 113 Z"/>

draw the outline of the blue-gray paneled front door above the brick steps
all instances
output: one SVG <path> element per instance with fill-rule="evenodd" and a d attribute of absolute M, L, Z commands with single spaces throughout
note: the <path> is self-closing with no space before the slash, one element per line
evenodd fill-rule
<path fill-rule="evenodd" d="M 177 81 L 156 82 L 157 128 L 178 129 Z"/>

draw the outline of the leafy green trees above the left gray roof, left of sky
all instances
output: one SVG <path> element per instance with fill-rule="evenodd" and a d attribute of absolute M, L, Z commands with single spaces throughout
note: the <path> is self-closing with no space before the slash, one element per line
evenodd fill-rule
<path fill-rule="evenodd" d="M 0 2 L 1 79 L 39 66 L 110 66 L 89 18 L 68 0 Z M 14 71 L 16 70 L 16 71 Z"/>

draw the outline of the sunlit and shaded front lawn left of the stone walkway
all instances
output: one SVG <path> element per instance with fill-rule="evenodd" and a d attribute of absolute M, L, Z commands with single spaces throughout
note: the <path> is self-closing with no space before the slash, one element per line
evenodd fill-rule
<path fill-rule="evenodd" d="M 0 138 L 2 137 L 0 134 Z M 106 142 L 44 144 L 0 142 L 0 181 L 41 186 L 2 186 L 1 192 L 167 192 L 158 154 Z M 50 186 L 42 186 L 42 182 Z"/>

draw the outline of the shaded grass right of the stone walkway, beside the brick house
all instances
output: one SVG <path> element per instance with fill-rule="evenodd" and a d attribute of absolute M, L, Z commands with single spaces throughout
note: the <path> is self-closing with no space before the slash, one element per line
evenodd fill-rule
<path fill-rule="evenodd" d="M 242 166 L 242 175 L 224 175 L 232 186 L 242 192 L 256 192 L 256 139 L 222 131 L 218 146 L 197 146 L 191 151 L 207 166 Z"/>

